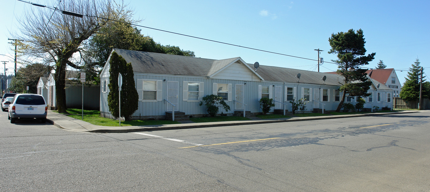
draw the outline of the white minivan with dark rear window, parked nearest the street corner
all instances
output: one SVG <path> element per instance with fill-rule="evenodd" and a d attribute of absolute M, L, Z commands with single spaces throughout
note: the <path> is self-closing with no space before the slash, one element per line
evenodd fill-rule
<path fill-rule="evenodd" d="M 46 122 L 48 107 L 42 95 L 17 94 L 9 104 L 10 123 L 15 123 L 18 118 L 37 118 Z"/>

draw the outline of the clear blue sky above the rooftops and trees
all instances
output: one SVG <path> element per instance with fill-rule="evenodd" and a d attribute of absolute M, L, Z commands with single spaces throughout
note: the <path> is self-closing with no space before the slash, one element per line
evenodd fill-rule
<path fill-rule="evenodd" d="M 53 6 L 50 0 L 29 0 Z M 430 67 L 430 1 L 361 0 L 361 1 L 125 1 L 135 10 L 138 25 L 186 35 L 252 47 L 276 53 L 317 59 L 314 49 L 324 50 L 324 61 L 337 59 L 330 50 L 332 33 L 362 29 L 367 53 L 376 53 L 366 65 L 375 68 L 383 60 L 387 68 L 408 69 L 418 57 L 421 66 Z M 13 57 L 9 31 L 15 31 L 16 18 L 28 3 L 7 0 L 0 12 L 0 54 Z M 46 9 L 34 7 L 35 9 Z M 140 28 L 140 27 L 139 27 Z M 197 57 L 227 59 L 240 56 L 245 62 L 259 62 L 286 68 L 316 71 L 316 61 L 264 53 L 231 45 L 141 28 L 161 44 L 192 50 Z M 12 61 L 0 55 L 1 61 Z M 13 71 L 13 62 L 6 68 Z M 0 70 L 3 71 L 3 64 Z M 337 65 L 324 63 L 321 72 L 335 71 Z M 430 71 L 424 69 L 424 72 Z M 406 71 L 396 71 L 403 83 Z M 427 73 L 430 75 L 430 72 Z M 428 80 L 428 79 L 427 79 Z"/>

